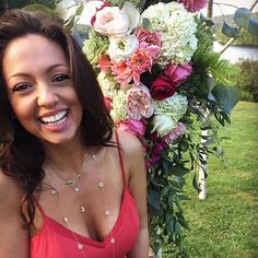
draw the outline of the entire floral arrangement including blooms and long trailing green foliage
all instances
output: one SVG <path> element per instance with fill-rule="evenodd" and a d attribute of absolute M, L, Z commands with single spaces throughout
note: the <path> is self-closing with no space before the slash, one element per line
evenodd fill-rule
<path fill-rule="evenodd" d="M 230 63 L 211 51 L 213 23 L 199 14 L 206 4 L 62 0 L 55 10 L 95 69 L 117 128 L 142 142 L 154 253 L 177 246 L 185 255 L 184 175 L 206 164 L 203 154 L 220 154 L 218 121 L 230 122 L 238 101 L 225 86 Z M 199 190 L 195 177 L 194 186 Z"/>

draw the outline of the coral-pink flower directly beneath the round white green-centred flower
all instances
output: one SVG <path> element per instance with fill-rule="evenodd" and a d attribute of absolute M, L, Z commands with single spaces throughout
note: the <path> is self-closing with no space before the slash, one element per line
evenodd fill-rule
<path fill-rule="evenodd" d="M 132 70 L 125 61 L 114 61 L 112 72 L 115 75 L 115 80 L 121 85 L 128 84 L 132 80 Z"/>

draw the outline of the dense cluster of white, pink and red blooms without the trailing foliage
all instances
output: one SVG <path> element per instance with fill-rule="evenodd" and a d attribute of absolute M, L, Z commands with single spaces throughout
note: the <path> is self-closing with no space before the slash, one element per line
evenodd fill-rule
<path fill-rule="evenodd" d="M 179 89 L 192 72 L 195 15 L 183 3 L 149 7 L 130 2 L 84 4 L 79 24 L 91 27 L 83 51 L 97 71 L 117 127 L 142 140 L 146 166 L 186 130 L 188 99 Z"/>

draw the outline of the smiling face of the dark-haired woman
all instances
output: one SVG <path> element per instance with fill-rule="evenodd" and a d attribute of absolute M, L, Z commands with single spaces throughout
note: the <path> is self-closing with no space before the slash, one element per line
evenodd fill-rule
<path fill-rule="evenodd" d="M 39 35 L 11 42 L 3 77 L 15 117 L 40 141 L 66 143 L 79 133 L 82 106 L 61 47 Z"/>

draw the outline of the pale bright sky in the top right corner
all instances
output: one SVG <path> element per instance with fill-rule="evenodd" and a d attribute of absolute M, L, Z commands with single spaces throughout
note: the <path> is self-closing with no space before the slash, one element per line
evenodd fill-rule
<path fill-rule="evenodd" d="M 226 4 L 232 4 L 236 5 L 237 8 L 247 8 L 249 9 L 256 0 L 213 0 L 213 16 L 219 16 L 222 15 L 220 8 L 215 3 L 226 3 Z M 233 7 L 227 7 L 224 4 L 220 4 L 222 12 L 224 15 L 226 14 L 233 14 L 235 13 L 236 8 Z M 253 12 L 258 12 L 258 3 L 256 4 L 255 9 Z M 206 13 L 206 10 L 203 10 L 203 13 Z"/>

